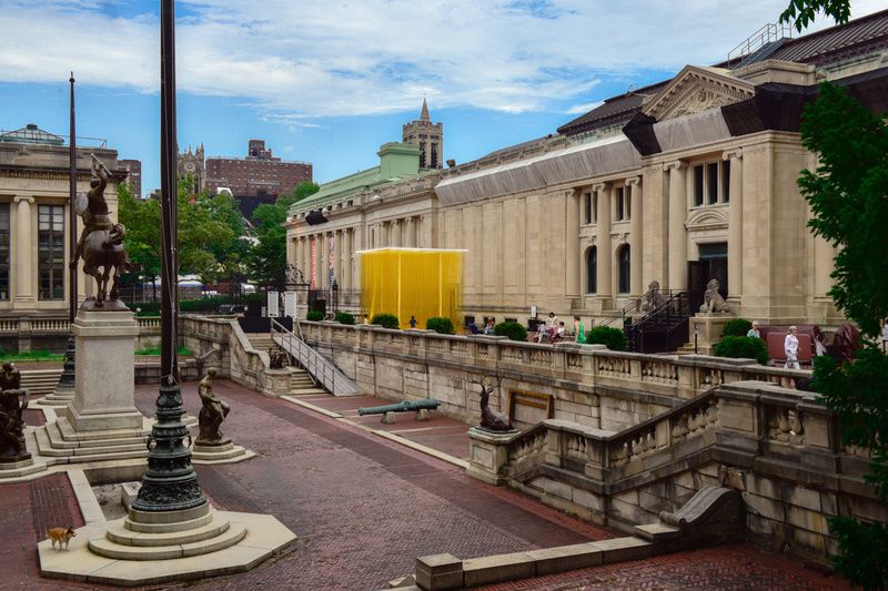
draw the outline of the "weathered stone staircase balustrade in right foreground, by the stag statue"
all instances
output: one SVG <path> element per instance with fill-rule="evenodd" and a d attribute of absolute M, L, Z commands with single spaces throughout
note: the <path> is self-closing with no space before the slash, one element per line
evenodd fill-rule
<path fill-rule="evenodd" d="M 557 419 L 505 437 L 473 428 L 467 472 L 625 530 L 702 487 L 735 488 L 755 540 L 826 564 L 829 517 L 884 522 L 888 508 L 864 481 L 867 454 L 841 445 L 815 396 L 736 381 L 619 432 Z"/>

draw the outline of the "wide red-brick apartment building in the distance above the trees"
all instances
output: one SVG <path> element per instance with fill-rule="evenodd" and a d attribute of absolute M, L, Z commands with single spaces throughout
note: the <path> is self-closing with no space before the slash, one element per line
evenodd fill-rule
<path fill-rule="evenodd" d="M 206 159 L 205 187 L 229 190 L 238 198 L 276 197 L 312 180 L 312 165 L 272 155 L 264 140 L 250 140 L 248 156 Z"/>

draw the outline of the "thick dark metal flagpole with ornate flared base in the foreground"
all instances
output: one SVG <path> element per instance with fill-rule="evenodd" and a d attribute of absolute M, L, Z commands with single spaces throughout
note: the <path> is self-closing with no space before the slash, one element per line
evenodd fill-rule
<path fill-rule="evenodd" d="M 176 326 L 179 294 L 178 191 L 175 142 L 175 7 L 161 0 L 161 385 L 157 399 L 158 421 L 149 439 L 148 469 L 132 507 L 139 511 L 175 511 L 206 503 L 191 466 L 191 436 L 182 424 L 182 390 L 179 386 Z"/>

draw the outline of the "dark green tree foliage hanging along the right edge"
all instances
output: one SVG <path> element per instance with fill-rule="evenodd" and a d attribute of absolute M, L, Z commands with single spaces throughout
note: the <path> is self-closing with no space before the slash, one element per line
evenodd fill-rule
<path fill-rule="evenodd" d="M 799 3 L 811 10 L 835 2 L 793 0 Z M 888 316 L 888 257 L 878 255 L 888 225 L 888 124 L 825 83 L 817 101 L 805 109 L 801 142 L 819 162 L 816 174 L 803 171 L 798 182 L 813 212 L 808 225 L 837 248 L 829 295 L 864 335 L 876 337 L 879 322 Z M 831 357 L 817 357 L 814 383 L 820 400 L 835 412 L 842 444 L 869 450 L 865 478 L 888 501 L 888 356 L 870 344 L 855 363 L 839 366 Z M 833 518 L 829 529 L 839 544 L 833 557 L 836 572 L 855 585 L 888 587 L 885 523 Z"/>

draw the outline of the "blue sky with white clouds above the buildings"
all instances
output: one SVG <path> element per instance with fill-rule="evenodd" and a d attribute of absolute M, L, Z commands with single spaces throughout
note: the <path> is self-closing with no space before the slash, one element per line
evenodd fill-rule
<path fill-rule="evenodd" d="M 444 159 L 466 162 L 723 61 L 787 2 L 179 0 L 179 145 L 242 157 L 262 139 L 332 181 L 376 165 L 425 96 Z M 141 160 L 143 193 L 159 186 L 159 4 L 0 0 L 0 129 L 67 135 L 73 71 L 77 135 Z"/>

